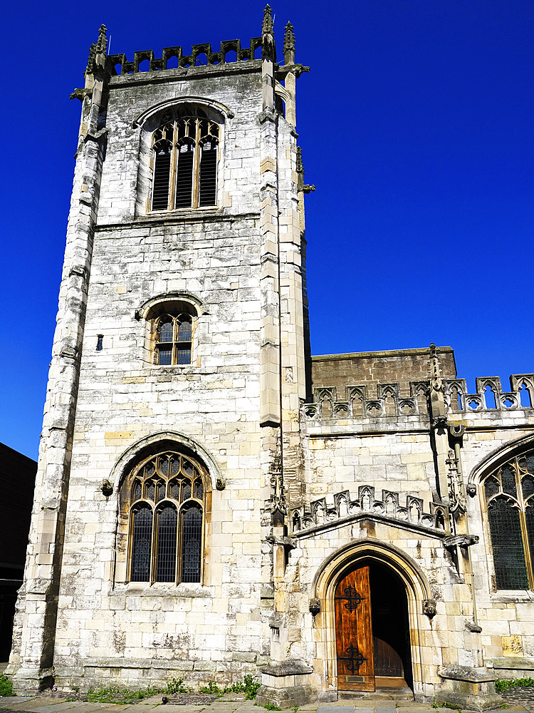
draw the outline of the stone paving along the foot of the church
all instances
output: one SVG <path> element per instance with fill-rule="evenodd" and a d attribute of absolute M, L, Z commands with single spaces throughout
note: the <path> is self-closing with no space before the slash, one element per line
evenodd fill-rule
<path fill-rule="evenodd" d="M 78 694 L 80 697 L 80 694 Z M 162 705 L 162 696 L 154 696 L 134 704 L 90 703 L 60 694 L 41 694 L 34 697 L 0 698 L 0 713 L 261 713 L 253 701 L 243 696 L 228 694 L 221 698 L 199 694 L 169 695 Z M 534 687 L 516 688 L 503 694 L 504 707 L 486 713 L 520 711 L 534 713 Z M 437 711 L 446 711 L 438 708 Z M 435 713 L 431 704 L 408 701 L 375 699 L 370 696 L 353 701 L 342 699 L 329 704 L 308 704 L 298 709 L 299 713 Z"/>

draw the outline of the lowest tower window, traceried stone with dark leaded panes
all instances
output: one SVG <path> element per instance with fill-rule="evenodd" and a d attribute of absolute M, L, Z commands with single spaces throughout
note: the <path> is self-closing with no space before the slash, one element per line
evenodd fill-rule
<path fill-rule="evenodd" d="M 200 582 L 204 485 L 181 453 L 153 456 L 125 483 L 129 495 L 132 582 Z"/>

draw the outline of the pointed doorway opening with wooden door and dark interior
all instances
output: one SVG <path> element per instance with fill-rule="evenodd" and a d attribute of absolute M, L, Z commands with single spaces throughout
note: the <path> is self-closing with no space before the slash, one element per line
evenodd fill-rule
<path fill-rule="evenodd" d="M 345 570 L 334 593 L 337 688 L 413 687 L 404 583 L 377 560 Z"/>

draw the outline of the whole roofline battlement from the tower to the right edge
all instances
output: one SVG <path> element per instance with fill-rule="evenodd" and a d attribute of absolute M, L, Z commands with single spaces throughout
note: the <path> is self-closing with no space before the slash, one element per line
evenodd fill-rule
<path fill-rule="evenodd" d="M 374 389 L 373 389 L 374 390 Z M 429 381 L 410 381 L 409 396 L 402 396 L 398 382 L 377 384 L 376 396 L 370 386 L 345 387 L 345 399 L 337 399 L 335 386 L 314 389 L 314 401 L 303 406 L 307 421 L 324 419 L 382 419 L 387 416 L 427 416 Z M 503 391 L 498 376 L 476 379 L 476 393 L 469 394 L 465 379 L 444 379 L 449 413 L 520 411 L 534 408 L 534 374 L 513 374 L 510 391 Z"/>

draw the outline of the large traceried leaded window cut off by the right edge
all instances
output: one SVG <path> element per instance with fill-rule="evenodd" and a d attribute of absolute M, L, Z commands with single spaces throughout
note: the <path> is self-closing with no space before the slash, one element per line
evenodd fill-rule
<path fill-rule="evenodd" d="M 497 589 L 534 589 L 534 451 L 483 480 Z"/>

